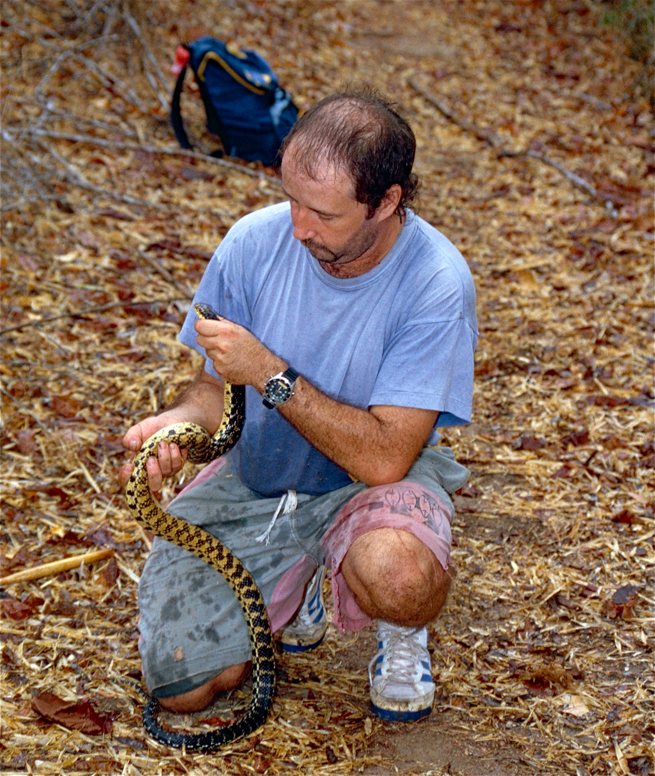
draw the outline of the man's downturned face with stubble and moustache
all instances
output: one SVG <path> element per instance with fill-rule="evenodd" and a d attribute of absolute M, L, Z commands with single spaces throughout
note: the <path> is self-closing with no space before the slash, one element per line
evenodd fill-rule
<path fill-rule="evenodd" d="M 380 225 L 375 214 L 355 199 L 344 171 L 319 168 L 309 178 L 296 165 L 293 145 L 282 158 L 282 186 L 291 203 L 293 237 L 319 262 L 348 264 L 375 244 Z"/>

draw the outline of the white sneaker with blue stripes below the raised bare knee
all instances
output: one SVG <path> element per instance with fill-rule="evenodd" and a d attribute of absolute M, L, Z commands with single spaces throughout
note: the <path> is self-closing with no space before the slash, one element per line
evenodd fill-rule
<path fill-rule="evenodd" d="M 373 713 L 393 722 L 427 716 L 435 698 L 427 629 L 378 620 L 377 642 L 378 651 L 369 663 Z"/>

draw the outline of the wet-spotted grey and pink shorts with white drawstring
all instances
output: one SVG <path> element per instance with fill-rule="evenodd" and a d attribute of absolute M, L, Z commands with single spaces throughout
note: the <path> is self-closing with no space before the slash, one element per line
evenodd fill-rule
<path fill-rule="evenodd" d="M 348 547 L 366 531 L 393 526 L 417 535 L 443 568 L 450 557 L 454 490 L 469 476 L 449 448 L 426 447 L 400 483 L 352 483 L 322 496 L 297 494 L 270 528 L 279 498 L 262 498 L 218 459 L 189 484 L 168 511 L 201 525 L 229 547 L 255 579 L 273 632 L 295 614 L 319 564 L 332 570 L 334 622 L 357 630 L 369 618 L 341 577 Z M 158 698 L 198 688 L 250 659 L 248 628 L 220 573 L 187 550 L 155 537 L 139 583 L 139 651 L 147 688 Z"/>

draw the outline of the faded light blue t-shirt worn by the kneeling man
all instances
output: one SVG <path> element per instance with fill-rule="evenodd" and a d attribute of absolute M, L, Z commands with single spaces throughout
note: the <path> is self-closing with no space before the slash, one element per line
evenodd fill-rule
<path fill-rule="evenodd" d="M 338 279 L 293 237 L 289 203 L 230 229 L 194 301 L 246 327 L 318 390 L 344 404 L 438 410 L 436 426 L 470 421 L 475 289 L 455 246 L 418 216 L 376 267 Z M 196 345 L 189 310 L 180 341 Z M 206 371 L 215 377 L 206 359 Z M 429 442 L 438 439 L 432 431 Z M 228 454 L 241 481 L 265 497 L 320 495 L 352 482 L 262 397 L 246 388 L 246 421 Z"/>

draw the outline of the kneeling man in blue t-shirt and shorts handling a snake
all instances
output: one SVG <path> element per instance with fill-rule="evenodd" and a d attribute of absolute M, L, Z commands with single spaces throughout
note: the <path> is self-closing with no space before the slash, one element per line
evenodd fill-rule
<path fill-rule="evenodd" d="M 191 311 L 182 327 L 204 369 L 124 438 L 137 450 L 178 421 L 213 433 L 223 380 L 247 386 L 240 442 L 168 509 L 241 559 L 283 649 L 321 643 L 329 566 L 341 632 L 376 620 L 371 705 L 395 720 L 428 714 L 434 698 L 425 625 L 449 590 L 449 494 L 468 471 L 426 445 L 437 426 L 470 420 L 477 339 L 466 263 L 406 209 L 414 149 L 407 123 L 371 92 L 306 113 L 282 147 L 289 203 L 236 223 L 200 283 L 196 301 L 223 319 Z M 160 445 L 151 489 L 184 457 Z M 139 603 L 144 677 L 161 705 L 196 711 L 243 681 L 245 622 L 206 563 L 155 539 Z"/>

